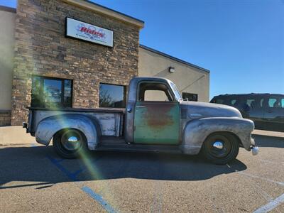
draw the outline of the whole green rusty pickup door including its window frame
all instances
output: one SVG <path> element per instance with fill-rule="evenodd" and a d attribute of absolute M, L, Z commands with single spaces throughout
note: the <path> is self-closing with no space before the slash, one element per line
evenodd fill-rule
<path fill-rule="evenodd" d="M 179 143 L 180 106 L 167 84 L 141 82 L 134 113 L 134 143 Z"/>

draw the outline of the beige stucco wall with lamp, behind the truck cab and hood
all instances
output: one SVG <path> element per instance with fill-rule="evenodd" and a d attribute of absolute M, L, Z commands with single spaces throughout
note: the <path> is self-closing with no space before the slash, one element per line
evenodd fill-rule
<path fill-rule="evenodd" d="M 169 72 L 169 67 L 175 67 L 175 72 Z M 168 78 L 177 85 L 180 92 L 198 94 L 199 102 L 209 102 L 209 72 L 141 47 L 139 48 L 138 76 Z"/>

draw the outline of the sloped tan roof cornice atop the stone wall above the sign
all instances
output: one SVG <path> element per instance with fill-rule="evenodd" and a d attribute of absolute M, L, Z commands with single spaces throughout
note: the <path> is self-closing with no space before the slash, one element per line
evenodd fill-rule
<path fill-rule="evenodd" d="M 65 1 L 67 4 L 72 4 L 74 6 L 78 6 L 84 9 L 89 9 L 90 11 L 94 11 L 97 13 L 101 13 L 105 16 L 109 16 L 111 18 L 118 19 L 120 21 L 124 21 L 126 23 L 131 23 L 135 26 L 137 26 L 139 29 L 144 27 L 144 21 L 139 20 L 138 18 L 133 18 L 131 16 L 128 16 L 124 13 L 121 13 L 119 11 L 115 11 L 113 9 L 109 9 L 106 6 L 102 6 L 99 4 L 96 4 L 89 0 L 62 0 Z"/>

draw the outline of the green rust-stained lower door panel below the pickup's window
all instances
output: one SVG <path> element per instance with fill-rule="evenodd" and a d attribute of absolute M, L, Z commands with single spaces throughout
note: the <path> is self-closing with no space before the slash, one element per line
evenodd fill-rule
<path fill-rule="evenodd" d="M 134 125 L 134 143 L 178 144 L 179 104 L 136 102 Z"/>

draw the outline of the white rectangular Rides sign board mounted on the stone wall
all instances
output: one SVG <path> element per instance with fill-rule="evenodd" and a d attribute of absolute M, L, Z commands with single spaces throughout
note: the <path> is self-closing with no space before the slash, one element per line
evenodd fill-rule
<path fill-rule="evenodd" d="M 65 35 L 113 47 L 114 32 L 89 23 L 66 17 Z"/>

